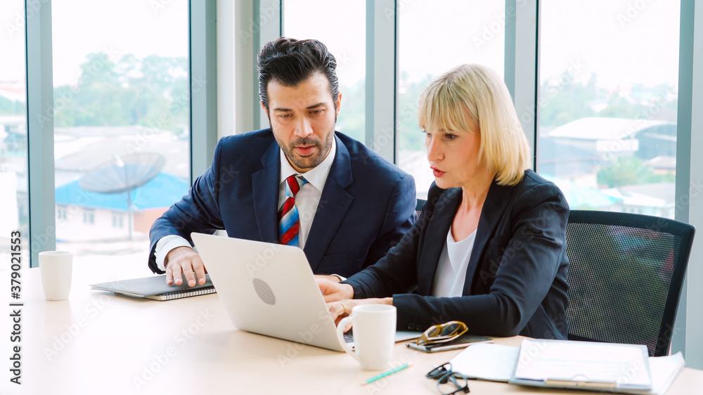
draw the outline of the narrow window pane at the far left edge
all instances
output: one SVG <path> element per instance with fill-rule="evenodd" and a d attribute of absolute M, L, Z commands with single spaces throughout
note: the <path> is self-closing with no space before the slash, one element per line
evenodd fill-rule
<path fill-rule="evenodd" d="M 25 80 L 25 2 L 4 1 L 0 32 L 0 259 L 10 261 L 9 239 L 22 234 L 22 250 L 29 251 L 27 195 L 27 115 Z M 27 262 L 27 256 L 22 257 Z M 4 270 L 8 264 L 2 265 Z"/>

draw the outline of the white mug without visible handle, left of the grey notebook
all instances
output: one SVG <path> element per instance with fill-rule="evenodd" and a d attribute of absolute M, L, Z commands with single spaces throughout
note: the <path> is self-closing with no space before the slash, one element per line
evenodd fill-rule
<path fill-rule="evenodd" d="M 41 286 L 46 300 L 68 299 L 71 292 L 73 254 L 67 251 L 39 252 Z"/>

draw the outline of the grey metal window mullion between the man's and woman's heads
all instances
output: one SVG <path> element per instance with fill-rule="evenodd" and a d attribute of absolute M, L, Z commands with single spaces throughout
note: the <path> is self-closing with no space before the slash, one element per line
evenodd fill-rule
<path fill-rule="evenodd" d="M 364 142 L 391 162 L 396 157 L 396 15 L 395 0 L 366 0 Z"/>

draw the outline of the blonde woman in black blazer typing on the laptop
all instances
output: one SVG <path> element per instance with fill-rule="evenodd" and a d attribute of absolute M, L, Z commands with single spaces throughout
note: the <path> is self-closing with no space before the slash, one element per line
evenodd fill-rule
<path fill-rule="evenodd" d="M 393 304 L 399 330 L 460 320 L 477 335 L 566 339 L 566 224 L 559 188 L 529 169 L 529 145 L 501 78 L 461 65 L 420 98 L 434 172 L 420 219 L 378 263 L 318 278 L 336 319 Z"/>

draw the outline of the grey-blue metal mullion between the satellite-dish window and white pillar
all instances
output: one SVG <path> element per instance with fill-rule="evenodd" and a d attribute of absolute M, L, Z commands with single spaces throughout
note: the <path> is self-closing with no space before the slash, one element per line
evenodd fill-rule
<path fill-rule="evenodd" d="M 189 1 L 191 184 L 209 167 L 217 145 L 217 2 Z"/>

